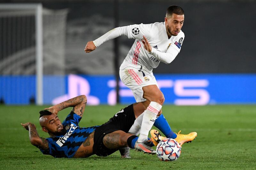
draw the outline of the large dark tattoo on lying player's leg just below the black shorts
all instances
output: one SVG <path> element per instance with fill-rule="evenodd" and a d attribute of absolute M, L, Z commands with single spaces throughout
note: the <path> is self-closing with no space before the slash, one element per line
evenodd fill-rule
<path fill-rule="evenodd" d="M 122 146 L 122 144 L 119 142 L 119 134 L 118 133 L 110 133 L 104 136 L 103 138 L 103 144 L 108 149 L 116 149 Z"/>

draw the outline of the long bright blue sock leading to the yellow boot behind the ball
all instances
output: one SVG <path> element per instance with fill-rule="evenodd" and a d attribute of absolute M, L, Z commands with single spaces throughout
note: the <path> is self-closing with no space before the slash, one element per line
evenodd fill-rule
<path fill-rule="evenodd" d="M 167 138 L 175 139 L 177 135 L 172 132 L 172 129 L 166 119 L 164 118 L 164 115 L 161 114 L 155 121 L 154 126 L 158 128 Z"/>

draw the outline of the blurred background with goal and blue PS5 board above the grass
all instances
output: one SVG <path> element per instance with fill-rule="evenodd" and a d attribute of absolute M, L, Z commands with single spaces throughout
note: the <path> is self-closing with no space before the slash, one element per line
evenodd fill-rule
<path fill-rule="evenodd" d="M 164 22 L 170 5 L 185 11 L 185 39 L 171 64 L 153 70 L 165 104 L 256 103 L 254 0 L 0 2 L 1 104 L 57 104 L 82 94 L 91 105 L 135 102 L 117 81 L 134 40 L 121 36 L 87 54 L 85 44 L 114 27 Z"/>

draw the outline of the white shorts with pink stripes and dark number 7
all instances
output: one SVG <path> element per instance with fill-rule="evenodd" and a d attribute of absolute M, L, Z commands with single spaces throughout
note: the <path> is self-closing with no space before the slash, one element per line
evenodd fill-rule
<path fill-rule="evenodd" d="M 136 68 L 125 68 L 119 70 L 121 81 L 126 87 L 132 90 L 136 102 L 144 102 L 142 87 L 148 85 L 157 85 L 156 78 L 153 73 L 138 70 Z"/>

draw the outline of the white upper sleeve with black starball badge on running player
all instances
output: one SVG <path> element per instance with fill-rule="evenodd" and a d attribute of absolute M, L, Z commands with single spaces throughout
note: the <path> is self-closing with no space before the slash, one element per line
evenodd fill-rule
<path fill-rule="evenodd" d="M 142 39 L 143 35 L 149 35 L 152 24 L 134 24 L 127 26 L 127 37 Z"/>

